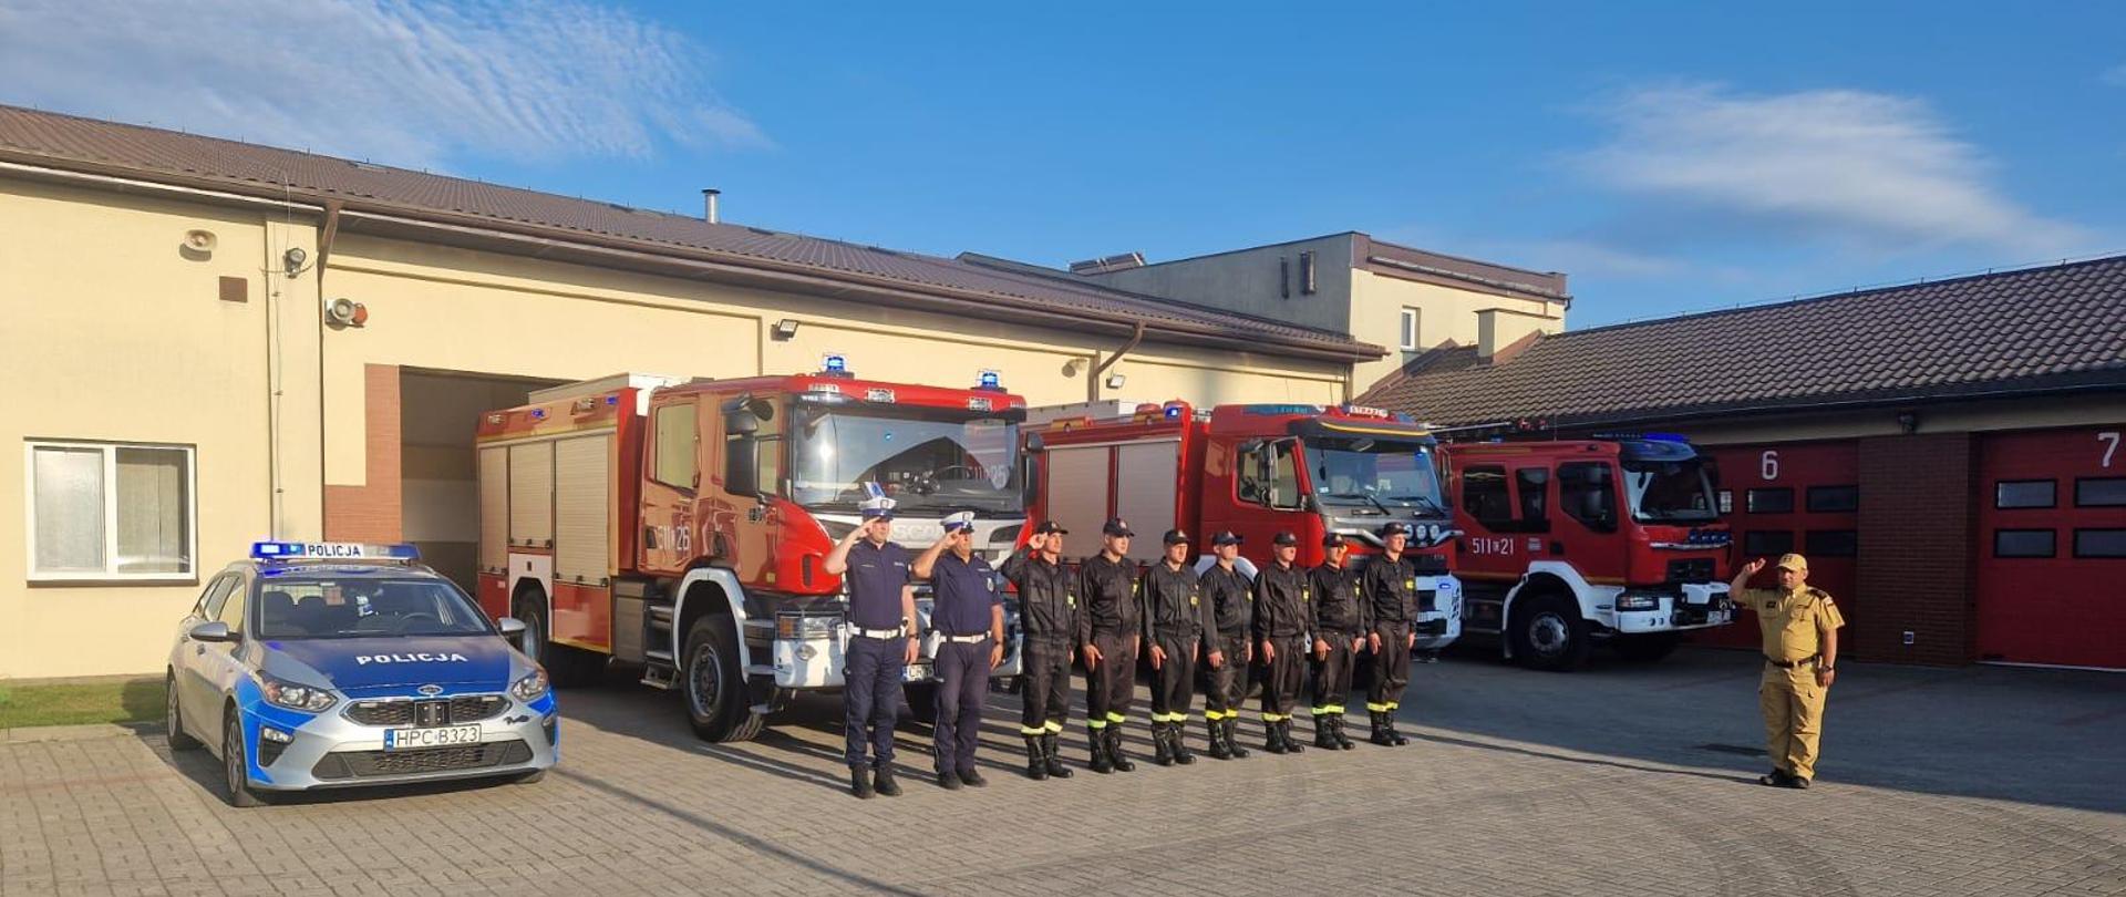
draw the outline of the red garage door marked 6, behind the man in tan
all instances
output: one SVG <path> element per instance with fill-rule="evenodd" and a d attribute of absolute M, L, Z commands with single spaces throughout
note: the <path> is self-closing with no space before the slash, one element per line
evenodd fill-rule
<path fill-rule="evenodd" d="M 1748 561 L 1799 551 L 1809 557 L 1809 585 L 1828 591 L 1852 625 L 1862 610 L 1854 595 L 1858 534 L 1858 455 L 1852 440 L 1714 446 L 1720 463 L 1720 510 L 1735 531 L 1731 557 Z M 1771 570 L 1750 585 L 1777 585 Z M 1699 636 L 1699 642 L 1760 646 L 1756 616 Z"/>

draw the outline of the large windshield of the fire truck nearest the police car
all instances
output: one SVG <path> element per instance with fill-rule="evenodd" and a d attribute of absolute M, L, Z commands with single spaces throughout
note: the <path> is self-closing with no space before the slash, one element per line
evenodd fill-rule
<path fill-rule="evenodd" d="M 791 440 L 793 500 L 855 510 L 878 483 L 901 514 L 1025 508 L 1018 425 L 942 408 L 802 408 Z"/>

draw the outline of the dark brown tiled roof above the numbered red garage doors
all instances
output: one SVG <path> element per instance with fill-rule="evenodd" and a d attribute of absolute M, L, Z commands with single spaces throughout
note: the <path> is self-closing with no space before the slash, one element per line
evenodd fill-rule
<path fill-rule="evenodd" d="M 2126 389 L 2126 255 L 1554 334 L 1503 363 L 1448 344 L 1359 402 L 1575 425 L 2086 387 Z"/>

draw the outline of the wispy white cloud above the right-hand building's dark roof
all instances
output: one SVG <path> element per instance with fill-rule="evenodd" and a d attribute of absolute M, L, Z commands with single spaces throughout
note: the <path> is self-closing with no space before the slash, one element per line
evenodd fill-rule
<path fill-rule="evenodd" d="M 2073 255 L 2092 244 L 2001 193 L 1984 153 L 1920 100 L 1692 85 L 1624 94 L 1597 115 L 1614 134 L 1575 162 L 1624 193 L 1896 247 Z"/>

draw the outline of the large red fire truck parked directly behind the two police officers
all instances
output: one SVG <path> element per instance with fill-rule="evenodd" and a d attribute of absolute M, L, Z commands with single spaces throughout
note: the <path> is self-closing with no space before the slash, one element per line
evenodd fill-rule
<path fill-rule="evenodd" d="M 1025 525 L 1025 400 L 993 372 L 974 389 L 816 374 L 672 380 L 619 374 L 532 393 L 478 425 L 478 597 L 525 621 L 557 680 L 608 661 L 678 689 L 706 740 L 753 738 L 795 691 L 840 689 L 846 644 L 833 542 L 878 483 L 912 548 L 976 514 L 997 559 Z M 935 648 L 918 593 L 925 657 Z M 1014 646 L 997 676 L 1018 672 Z M 910 667 L 927 708 L 929 661 Z"/>

